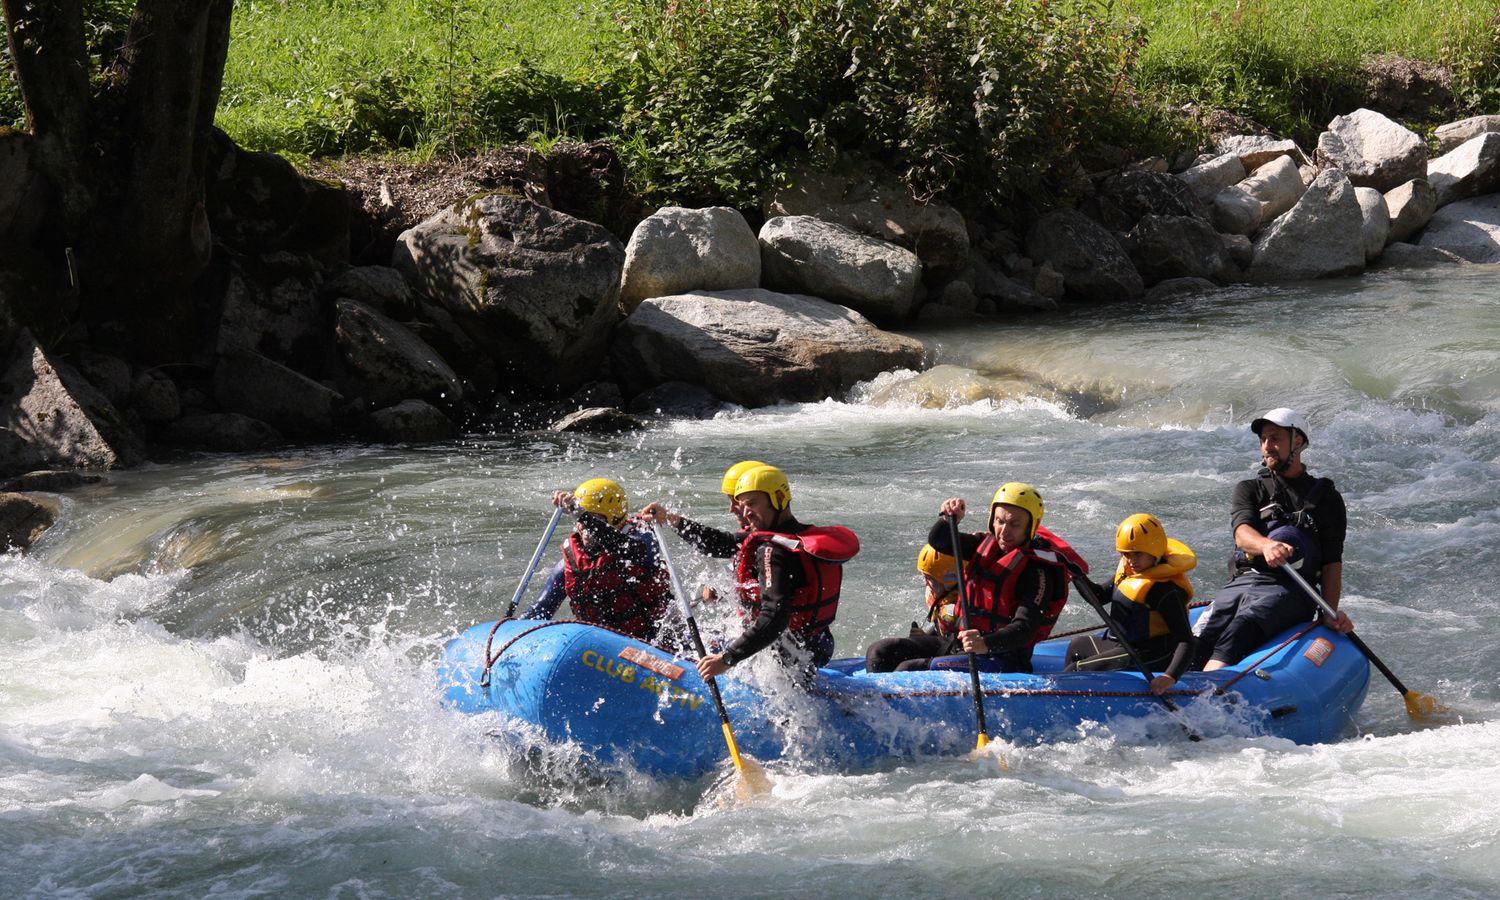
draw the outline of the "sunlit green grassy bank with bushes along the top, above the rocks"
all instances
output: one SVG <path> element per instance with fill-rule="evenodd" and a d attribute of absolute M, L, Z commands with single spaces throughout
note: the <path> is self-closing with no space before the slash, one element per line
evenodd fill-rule
<path fill-rule="evenodd" d="M 104 3 L 120 26 L 124 0 Z M 1366 58 L 1443 66 L 1500 112 L 1496 0 L 240 0 L 219 124 L 294 158 L 608 138 L 648 196 L 746 201 L 872 158 L 993 201 L 1184 105 L 1316 132 Z M 99 32 L 100 34 L 118 33 Z M 9 81 L 9 80 L 6 80 Z M 0 90 L 0 124 L 18 116 Z"/>

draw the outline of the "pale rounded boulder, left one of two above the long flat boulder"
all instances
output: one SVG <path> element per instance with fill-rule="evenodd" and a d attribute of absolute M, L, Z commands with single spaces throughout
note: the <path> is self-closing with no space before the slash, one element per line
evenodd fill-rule
<path fill-rule="evenodd" d="M 760 246 L 738 210 L 664 207 L 630 234 L 620 278 L 620 306 L 684 291 L 760 286 Z"/>

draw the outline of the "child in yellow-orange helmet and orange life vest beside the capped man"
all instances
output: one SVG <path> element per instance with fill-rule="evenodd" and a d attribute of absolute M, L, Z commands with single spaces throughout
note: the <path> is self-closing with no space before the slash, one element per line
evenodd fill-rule
<path fill-rule="evenodd" d="M 1192 584 L 1188 572 L 1198 558 L 1188 544 L 1167 537 L 1156 516 L 1136 513 L 1114 530 L 1114 550 L 1119 566 L 1108 591 L 1110 618 L 1119 626 L 1125 640 L 1137 651 L 1152 672 L 1150 690 L 1162 693 L 1182 678 L 1192 663 L 1197 639 L 1188 624 L 1188 602 Z M 1104 597 L 1106 590 L 1094 582 L 1078 585 Z M 1130 651 L 1108 632 L 1082 634 L 1068 644 L 1068 672 L 1098 672 L 1134 666 Z"/>

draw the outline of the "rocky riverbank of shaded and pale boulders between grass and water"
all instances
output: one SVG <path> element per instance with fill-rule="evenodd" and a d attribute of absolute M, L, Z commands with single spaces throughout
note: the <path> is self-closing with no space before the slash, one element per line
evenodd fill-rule
<path fill-rule="evenodd" d="M 795 178 L 759 210 L 642 210 L 604 146 L 492 154 L 412 196 L 410 172 L 315 180 L 220 135 L 192 358 L 102 350 L 69 332 L 66 290 L 0 264 L 0 476 L 628 429 L 921 368 L 897 330 L 924 322 L 1500 261 L 1500 116 L 1436 142 L 1356 110 L 1316 147 L 1226 135 L 1080 171 L 1068 206 L 996 225 L 870 171 Z M 18 244 L 45 196 L 28 152 L 0 135 L 0 234 Z M 34 520 L 14 514 L 15 534 Z"/>

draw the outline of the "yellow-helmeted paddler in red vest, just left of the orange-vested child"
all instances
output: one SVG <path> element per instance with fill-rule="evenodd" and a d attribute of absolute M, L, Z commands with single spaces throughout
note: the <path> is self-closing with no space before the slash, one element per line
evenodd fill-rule
<path fill-rule="evenodd" d="M 1052 633 L 1068 602 L 1068 562 L 1088 572 L 1066 542 L 1042 528 L 1046 508 L 1030 484 L 1000 484 L 990 502 L 988 530 L 960 534 L 954 548 L 948 520 L 962 522 L 964 512 L 963 498 L 950 496 L 927 532 L 933 549 L 964 566 L 968 596 L 960 598 L 958 633 L 932 657 L 898 662 L 898 672 L 968 669 L 968 656 L 958 654 L 975 654 L 987 672 L 1030 672 L 1032 648 Z"/>

